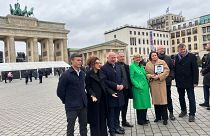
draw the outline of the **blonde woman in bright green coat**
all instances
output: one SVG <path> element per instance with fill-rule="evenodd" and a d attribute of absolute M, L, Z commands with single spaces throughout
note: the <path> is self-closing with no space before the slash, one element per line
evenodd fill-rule
<path fill-rule="evenodd" d="M 133 91 L 133 107 L 137 112 L 139 125 L 148 124 L 147 109 L 151 108 L 149 84 L 146 71 L 141 64 L 140 54 L 133 56 L 133 63 L 130 65 L 130 77 Z"/>

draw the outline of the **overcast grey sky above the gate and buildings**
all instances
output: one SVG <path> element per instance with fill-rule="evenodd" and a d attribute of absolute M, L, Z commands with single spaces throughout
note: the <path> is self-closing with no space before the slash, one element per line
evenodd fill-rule
<path fill-rule="evenodd" d="M 9 4 L 16 0 L 0 0 L 0 16 L 10 14 Z M 34 17 L 44 21 L 66 23 L 68 47 L 81 48 L 104 42 L 104 32 L 121 25 L 146 26 L 150 17 L 170 13 L 186 19 L 210 13 L 209 0 L 19 0 L 21 8 L 34 7 Z M 19 47 L 17 47 L 19 46 Z M 25 45 L 18 43 L 17 50 Z M 0 50 L 2 50 L 0 41 Z"/>

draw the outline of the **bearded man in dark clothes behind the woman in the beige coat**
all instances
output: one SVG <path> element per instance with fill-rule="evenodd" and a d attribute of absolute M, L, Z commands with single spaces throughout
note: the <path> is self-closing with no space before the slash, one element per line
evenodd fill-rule
<path fill-rule="evenodd" d="M 173 65 L 171 58 L 165 54 L 164 46 L 159 45 L 157 48 L 157 52 L 158 52 L 158 58 L 161 60 L 164 60 L 170 69 L 170 73 L 169 73 L 168 77 L 166 78 L 167 103 L 168 103 L 167 107 L 169 110 L 170 119 L 175 120 L 175 117 L 173 114 L 173 103 L 172 103 L 172 99 L 171 99 L 171 81 L 174 79 L 174 65 Z"/>

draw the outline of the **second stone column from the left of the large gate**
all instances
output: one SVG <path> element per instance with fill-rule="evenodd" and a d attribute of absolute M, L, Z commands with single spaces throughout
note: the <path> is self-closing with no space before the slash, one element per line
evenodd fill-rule
<path fill-rule="evenodd" d="M 26 44 L 27 44 L 26 45 L 26 53 L 27 53 L 27 57 L 28 57 L 28 62 L 39 61 L 37 38 L 27 39 Z"/>

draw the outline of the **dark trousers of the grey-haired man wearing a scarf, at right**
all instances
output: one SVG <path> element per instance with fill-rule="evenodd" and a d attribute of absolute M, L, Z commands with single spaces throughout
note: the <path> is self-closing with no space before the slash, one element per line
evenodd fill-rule
<path fill-rule="evenodd" d="M 189 106 L 190 106 L 190 113 L 189 115 L 195 116 L 196 112 L 196 103 L 195 103 L 195 93 L 194 88 L 177 88 L 179 93 L 179 103 L 181 110 L 186 112 L 186 102 L 185 102 L 185 90 L 187 91 L 187 96 L 189 100 Z"/>

